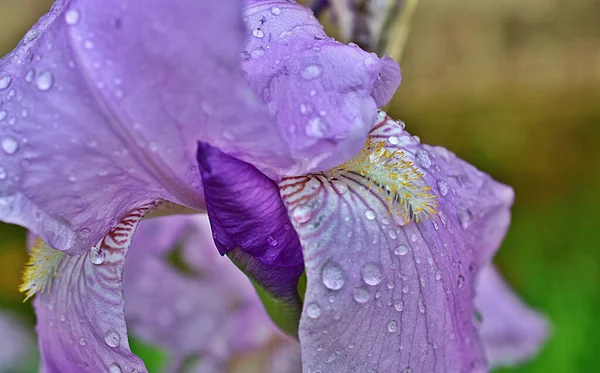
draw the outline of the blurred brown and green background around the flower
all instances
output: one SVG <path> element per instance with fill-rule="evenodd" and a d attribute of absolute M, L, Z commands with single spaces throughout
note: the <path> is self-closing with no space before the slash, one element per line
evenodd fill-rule
<path fill-rule="evenodd" d="M 0 0 L 0 54 L 50 3 Z M 516 190 L 496 262 L 552 335 L 537 359 L 501 371 L 596 371 L 600 1 L 421 0 L 401 66 L 392 116 Z M 33 326 L 17 291 L 24 231 L 0 225 L 0 237 L 0 308 Z"/>

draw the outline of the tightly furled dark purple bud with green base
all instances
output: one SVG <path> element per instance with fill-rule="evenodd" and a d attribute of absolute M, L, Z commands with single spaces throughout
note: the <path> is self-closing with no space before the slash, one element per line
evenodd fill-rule
<path fill-rule="evenodd" d="M 281 301 L 295 329 L 304 265 L 277 185 L 252 165 L 207 144 L 198 145 L 198 164 L 219 252 Z"/>

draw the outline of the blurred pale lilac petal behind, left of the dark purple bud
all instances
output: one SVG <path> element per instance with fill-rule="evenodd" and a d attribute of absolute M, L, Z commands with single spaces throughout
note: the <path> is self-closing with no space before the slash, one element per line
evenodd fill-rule
<path fill-rule="evenodd" d="M 189 273 L 170 265 L 168 254 L 188 263 Z M 218 254 L 206 215 L 142 222 L 128 259 L 130 330 L 171 355 L 221 364 L 280 336 L 248 278 Z"/>

